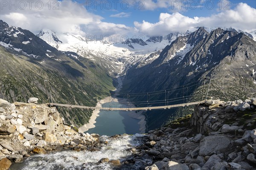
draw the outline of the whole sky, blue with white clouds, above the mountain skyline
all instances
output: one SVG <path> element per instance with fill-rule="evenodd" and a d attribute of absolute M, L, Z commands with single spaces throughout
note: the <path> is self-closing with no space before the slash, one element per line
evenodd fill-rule
<path fill-rule="evenodd" d="M 167 35 L 198 26 L 256 30 L 256 0 L 35 0 L 32 8 L 29 4 L 10 8 L 9 2 L 1 1 L 0 19 L 34 34 L 43 28 L 82 36 L 129 37 Z"/>

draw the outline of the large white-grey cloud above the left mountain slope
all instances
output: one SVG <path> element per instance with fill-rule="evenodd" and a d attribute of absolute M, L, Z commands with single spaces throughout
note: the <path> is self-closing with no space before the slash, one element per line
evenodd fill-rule
<path fill-rule="evenodd" d="M 18 1 L 15 1 L 18 2 Z M 27 2 L 27 1 L 23 1 Z M 84 6 L 74 1 L 33 1 L 26 8 L 3 6 L 1 20 L 11 26 L 28 29 L 34 34 L 47 28 L 57 33 L 81 34 L 126 34 L 127 30 L 133 29 L 125 25 L 102 22 L 103 17 L 92 14 Z M 36 2 L 40 2 L 36 5 Z M 49 3 L 51 2 L 51 3 Z M 58 3 L 57 3 L 58 2 Z M 41 4 L 43 3 L 43 4 Z M 50 5 L 49 5 L 50 4 Z M 128 14 L 120 14 L 120 16 Z"/>

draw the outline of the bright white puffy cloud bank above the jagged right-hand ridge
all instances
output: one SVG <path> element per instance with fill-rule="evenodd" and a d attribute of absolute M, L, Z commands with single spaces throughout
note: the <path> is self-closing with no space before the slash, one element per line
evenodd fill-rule
<path fill-rule="evenodd" d="M 178 12 L 173 14 L 161 13 L 159 22 L 149 23 L 143 20 L 142 23 L 134 22 L 134 26 L 148 36 L 169 34 L 173 31 L 185 32 L 188 28 L 205 27 L 233 27 L 243 31 L 256 30 L 256 9 L 246 3 L 239 3 L 232 10 L 223 10 L 210 17 L 186 17 Z"/>

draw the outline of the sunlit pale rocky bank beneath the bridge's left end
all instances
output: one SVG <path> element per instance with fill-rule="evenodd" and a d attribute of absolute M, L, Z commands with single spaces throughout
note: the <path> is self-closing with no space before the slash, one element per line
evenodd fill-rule
<path fill-rule="evenodd" d="M 84 150 L 99 145 L 98 134 L 76 132 L 65 124 L 55 107 L 37 105 L 37 100 L 11 104 L 0 99 L 0 161 L 4 167 L 9 168 L 9 160 L 20 162 L 31 153 L 45 154 L 59 147 Z"/>

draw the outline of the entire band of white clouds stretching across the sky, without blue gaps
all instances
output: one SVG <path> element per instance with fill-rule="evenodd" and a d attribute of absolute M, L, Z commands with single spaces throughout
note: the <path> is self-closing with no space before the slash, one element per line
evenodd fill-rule
<path fill-rule="evenodd" d="M 27 1 L 24 1 L 27 2 Z M 33 1 L 34 2 L 34 1 Z M 9 25 L 28 29 L 34 34 L 41 31 L 42 28 L 48 28 L 58 33 L 71 33 L 85 35 L 95 35 L 104 37 L 105 35 L 134 35 L 156 36 L 166 35 L 173 31 L 186 31 L 188 28 L 197 26 L 206 27 L 233 27 L 243 31 L 251 32 L 256 30 L 256 9 L 245 3 L 239 3 L 232 10 L 221 10 L 218 14 L 210 17 L 187 17 L 178 12 L 168 14 L 161 13 L 157 23 L 150 23 L 143 20 L 142 23 L 135 21 L 134 27 L 128 27 L 124 24 L 103 22 L 103 17 L 92 14 L 86 10 L 80 3 L 74 1 L 40 1 L 44 3 L 44 8 L 32 9 L 28 6 L 25 9 L 9 10 L 9 6 L 1 10 L 1 20 Z M 58 2 L 58 10 L 52 10 L 53 2 Z M 146 0 L 144 7 L 154 10 L 155 8 L 165 8 L 170 6 L 173 0 Z M 47 4 L 48 3 L 48 4 Z M 130 13 L 121 12 L 113 14 L 111 17 L 128 17 Z"/>

